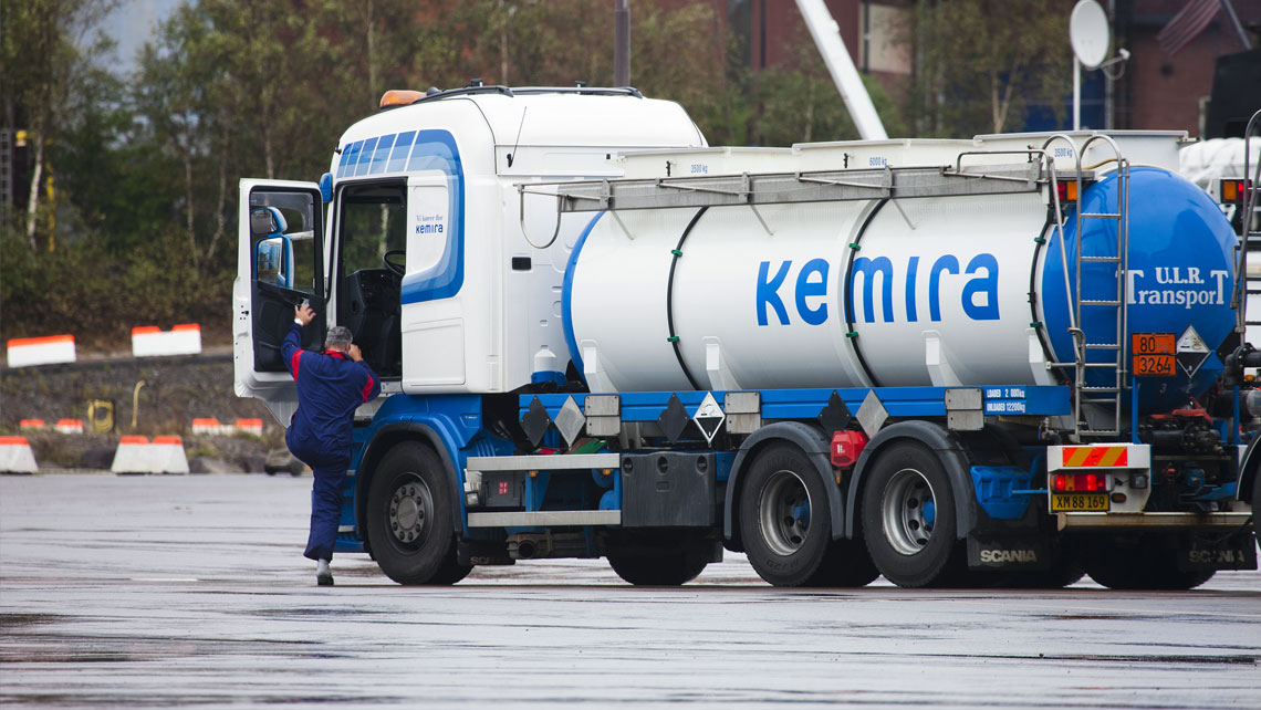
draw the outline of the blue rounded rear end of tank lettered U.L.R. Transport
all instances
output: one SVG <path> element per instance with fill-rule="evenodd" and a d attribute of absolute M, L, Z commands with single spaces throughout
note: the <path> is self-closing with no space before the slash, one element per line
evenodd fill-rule
<path fill-rule="evenodd" d="M 1110 174 L 1084 190 L 1083 214 L 1117 211 L 1117 177 Z M 1174 377 L 1144 377 L 1139 381 L 1139 411 L 1177 409 L 1188 397 L 1202 395 L 1218 378 L 1223 363 L 1216 351 L 1235 328 L 1231 310 L 1233 251 L 1237 238 L 1221 209 L 1209 195 L 1185 179 L 1156 168 L 1135 168 L 1130 173 L 1130 256 L 1129 256 L 1129 334 L 1170 333 L 1182 338 L 1194 328 L 1211 353 L 1190 375 L 1180 366 Z M 1116 256 L 1115 219 L 1083 221 L 1082 255 Z M 1073 208 L 1064 227 L 1064 253 L 1072 264 L 1077 245 Z M 1077 277 L 1069 269 L 1068 281 L 1076 293 Z M 1116 299 L 1116 264 L 1082 264 L 1082 298 Z M 1072 362 L 1069 303 L 1064 293 L 1059 237 L 1054 232 L 1047 243 L 1040 299 L 1047 330 L 1055 359 Z M 1111 308 L 1083 306 L 1081 328 L 1090 343 L 1111 343 L 1116 338 L 1116 311 Z M 1087 362 L 1108 362 L 1108 351 L 1088 351 Z M 1091 370 L 1088 385 L 1112 383 L 1110 368 Z"/>

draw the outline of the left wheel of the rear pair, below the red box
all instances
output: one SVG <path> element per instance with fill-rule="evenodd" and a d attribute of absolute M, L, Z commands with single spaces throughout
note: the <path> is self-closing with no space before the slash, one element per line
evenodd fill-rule
<path fill-rule="evenodd" d="M 808 584 L 832 542 L 827 491 L 801 449 L 774 444 L 749 467 L 740 493 L 749 564 L 776 586 Z"/>

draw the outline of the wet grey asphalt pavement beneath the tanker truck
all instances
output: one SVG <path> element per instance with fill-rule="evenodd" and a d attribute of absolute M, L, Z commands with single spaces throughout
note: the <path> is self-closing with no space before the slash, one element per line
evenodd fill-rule
<path fill-rule="evenodd" d="M 604 561 L 317 588 L 309 478 L 0 478 L 4 707 L 1261 707 L 1261 573 L 1188 593 L 677 589 Z"/>

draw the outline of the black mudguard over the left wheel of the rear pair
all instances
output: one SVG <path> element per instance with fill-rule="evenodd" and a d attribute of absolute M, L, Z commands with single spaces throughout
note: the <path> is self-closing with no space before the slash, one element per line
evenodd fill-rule
<path fill-rule="evenodd" d="M 740 444 L 740 450 L 735 454 L 735 460 L 731 462 L 731 473 L 728 477 L 726 496 L 723 503 L 723 537 L 730 541 L 735 550 L 744 547 L 739 527 L 735 526 L 735 511 L 739 509 L 743 494 L 741 474 L 763 449 L 779 441 L 797 446 L 815 464 L 815 472 L 827 489 L 827 503 L 832 512 L 832 538 L 841 537 L 846 511 L 844 501 L 841 501 L 841 488 L 836 484 L 836 474 L 828 458 L 831 444 L 818 428 L 799 421 L 777 421 L 749 435 Z"/>

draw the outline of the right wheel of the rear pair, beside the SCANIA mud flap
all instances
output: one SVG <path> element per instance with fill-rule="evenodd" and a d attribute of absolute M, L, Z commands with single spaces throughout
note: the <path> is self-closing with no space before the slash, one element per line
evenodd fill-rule
<path fill-rule="evenodd" d="M 863 488 L 871 561 L 898 586 L 950 585 L 962 570 L 955 492 L 941 462 L 918 444 L 893 444 Z"/>

